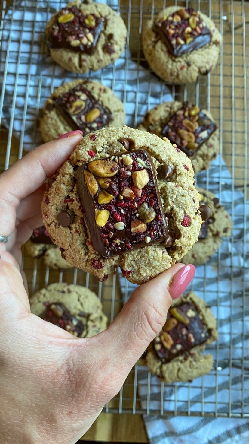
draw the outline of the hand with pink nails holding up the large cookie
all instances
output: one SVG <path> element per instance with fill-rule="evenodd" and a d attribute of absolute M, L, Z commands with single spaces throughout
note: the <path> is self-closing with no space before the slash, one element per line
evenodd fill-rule
<path fill-rule="evenodd" d="M 0 176 L 0 442 L 72 444 L 121 389 L 195 273 L 177 264 L 136 289 L 107 330 L 77 338 L 30 312 L 21 246 L 43 225 L 44 181 L 81 134 L 46 143 Z M 25 281 L 24 281 L 25 283 Z"/>

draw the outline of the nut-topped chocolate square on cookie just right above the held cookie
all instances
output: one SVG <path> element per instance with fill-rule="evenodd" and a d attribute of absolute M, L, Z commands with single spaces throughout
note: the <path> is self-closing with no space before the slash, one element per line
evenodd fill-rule
<path fill-rule="evenodd" d="M 202 143 L 206 142 L 216 129 L 214 121 L 199 107 L 183 102 L 183 107 L 167 120 L 161 134 L 171 143 L 175 143 L 188 157 L 193 158 Z"/>

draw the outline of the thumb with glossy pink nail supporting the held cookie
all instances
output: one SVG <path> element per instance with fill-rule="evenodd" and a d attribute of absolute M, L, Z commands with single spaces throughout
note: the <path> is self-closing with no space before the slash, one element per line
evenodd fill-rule
<path fill-rule="evenodd" d="M 102 334 L 102 344 L 110 353 L 120 377 L 126 377 L 149 343 L 165 324 L 172 299 L 179 297 L 195 275 L 193 265 L 175 264 L 140 285 L 119 315 Z"/>

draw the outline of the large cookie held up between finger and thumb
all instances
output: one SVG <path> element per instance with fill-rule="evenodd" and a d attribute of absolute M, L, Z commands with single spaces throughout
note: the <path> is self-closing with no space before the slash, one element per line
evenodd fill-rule
<path fill-rule="evenodd" d="M 131 150 L 136 160 L 127 154 Z M 136 157 L 139 150 L 151 156 L 154 173 L 147 162 L 138 155 Z M 92 167 L 89 166 L 92 160 L 101 162 L 93 163 Z M 84 213 L 78 184 L 77 170 L 83 165 L 86 176 L 89 176 L 89 180 L 84 180 L 92 182 L 93 186 L 89 191 L 93 196 L 91 208 L 96 210 L 94 218 L 90 218 L 93 227 L 87 224 L 89 217 Z M 155 176 L 156 183 L 153 182 Z M 109 274 L 115 274 L 117 266 L 120 266 L 123 276 L 141 284 L 169 268 L 196 242 L 201 216 L 198 211 L 199 194 L 193 182 L 191 161 L 167 139 L 125 126 L 103 128 L 82 139 L 59 170 L 51 187 L 47 187 L 42 202 L 44 224 L 53 242 L 63 249 L 63 257 L 74 266 L 93 273 L 101 281 Z M 160 203 L 155 187 L 158 187 L 166 224 L 159 214 Z M 96 202 L 100 191 L 101 197 L 104 196 L 101 204 Z M 110 199 L 109 203 L 104 203 L 105 198 Z M 141 209 L 143 203 L 145 205 Z M 69 214 L 68 226 L 62 226 L 58 221 L 62 211 Z M 106 216 L 110 217 L 110 225 L 108 218 L 105 220 Z M 145 219 L 148 222 L 144 222 L 144 217 L 148 218 Z M 114 227 L 119 222 L 123 222 L 126 232 L 130 230 L 129 241 L 121 234 L 121 224 Z M 134 238 L 131 224 L 135 228 Z M 96 230 L 95 240 L 90 234 L 93 228 Z M 117 248 L 120 254 L 104 257 L 97 253 L 93 241 L 99 242 L 100 238 L 108 248 L 113 246 L 113 241 L 120 244 Z M 131 239 L 137 241 L 137 248 L 127 246 Z M 157 243 L 150 243 L 155 239 Z M 147 245 L 138 246 L 140 240 Z"/>

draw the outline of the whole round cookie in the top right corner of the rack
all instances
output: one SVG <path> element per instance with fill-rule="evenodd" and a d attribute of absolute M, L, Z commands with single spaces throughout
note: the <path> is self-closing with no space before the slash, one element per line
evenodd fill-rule
<path fill-rule="evenodd" d="M 214 69 L 221 35 L 202 12 L 170 6 L 146 21 L 142 41 L 152 70 L 167 83 L 181 84 Z"/>

